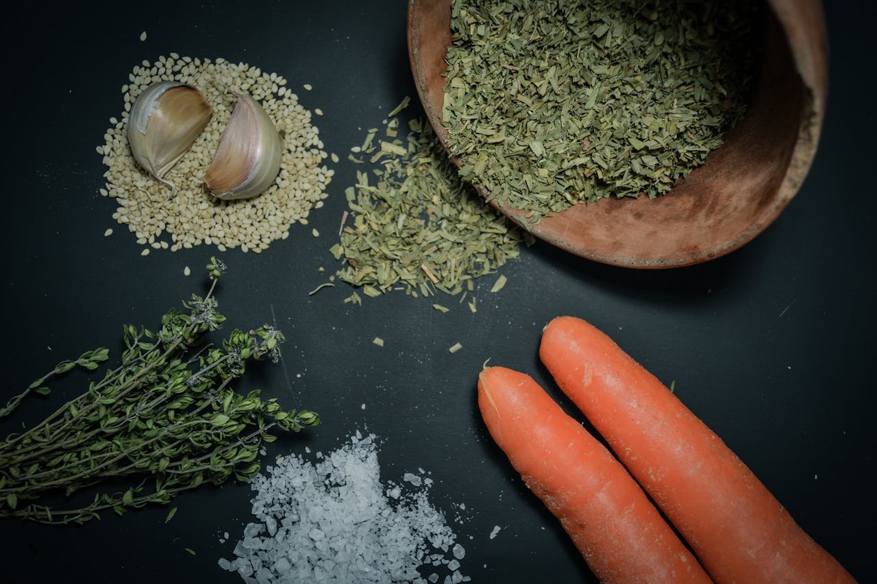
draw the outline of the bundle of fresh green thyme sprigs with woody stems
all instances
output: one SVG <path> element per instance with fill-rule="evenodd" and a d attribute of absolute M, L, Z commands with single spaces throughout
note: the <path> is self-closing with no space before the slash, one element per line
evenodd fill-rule
<path fill-rule="evenodd" d="M 0 516 L 84 523 L 104 509 L 122 515 L 167 503 L 203 482 L 246 481 L 259 472 L 256 455 L 275 440 L 275 426 L 299 431 L 317 424 L 313 412 L 283 410 L 258 391 L 240 395 L 232 389 L 246 361 L 279 359 L 283 336 L 262 326 L 232 331 L 221 346 L 204 345 L 204 336 L 225 321 L 212 295 L 225 266 L 213 260 L 208 270 L 213 286 L 207 296 L 192 296 L 185 312 L 168 311 L 158 331 L 125 325 L 118 367 L 0 443 Z M 13 397 L 0 417 L 31 393 L 48 394 L 44 384 L 53 375 L 77 366 L 94 370 L 107 359 L 100 348 L 62 362 Z M 120 480 L 125 487 L 113 492 Z M 71 502 L 86 488 L 89 495 L 97 490 L 90 502 Z"/>

